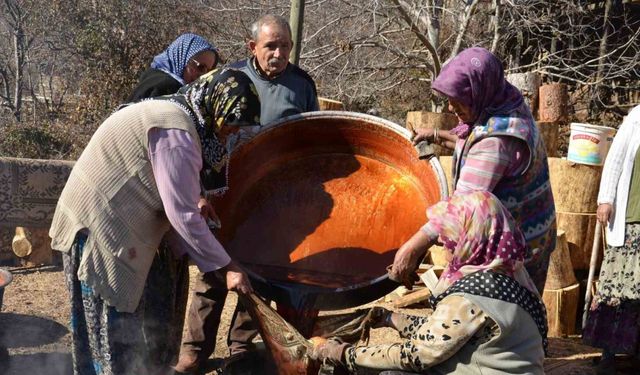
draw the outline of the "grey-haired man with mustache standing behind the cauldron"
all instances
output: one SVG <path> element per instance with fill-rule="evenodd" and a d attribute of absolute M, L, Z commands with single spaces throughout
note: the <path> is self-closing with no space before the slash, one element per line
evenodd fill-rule
<path fill-rule="evenodd" d="M 313 79 L 289 62 L 293 40 L 287 20 L 270 14 L 262 16 L 251 25 L 251 38 L 247 46 L 253 56 L 231 67 L 253 81 L 260 96 L 262 128 L 285 116 L 319 110 Z M 214 352 L 226 293 L 224 285 L 213 274 L 198 273 L 187 310 L 187 335 L 175 367 L 178 373 L 197 371 Z M 227 341 L 231 354 L 252 348 L 251 340 L 257 334 L 251 317 L 239 305 Z"/>

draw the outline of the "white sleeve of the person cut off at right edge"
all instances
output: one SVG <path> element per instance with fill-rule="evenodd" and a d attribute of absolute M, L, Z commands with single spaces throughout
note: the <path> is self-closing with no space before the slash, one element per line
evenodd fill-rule
<path fill-rule="evenodd" d="M 624 158 L 627 153 L 629 140 L 633 136 L 633 127 L 630 122 L 623 122 L 618 133 L 613 138 L 613 143 L 607 154 L 600 177 L 600 190 L 598 191 L 598 204 L 613 203 L 616 198 L 618 181 L 622 174 Z"/>

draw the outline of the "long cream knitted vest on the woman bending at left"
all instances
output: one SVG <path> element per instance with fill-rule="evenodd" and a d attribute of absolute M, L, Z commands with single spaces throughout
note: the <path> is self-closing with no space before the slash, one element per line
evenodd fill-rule
<path fill-rule="evenodd" d="M 200 147 L 186 108 L 143 101 L 123 108 L 96 130 L 60 195 L 49 235 L 69 251 L 88 233 L 78 278 L 118 311 L 135 311 L 156 249 L 169 229 L 148 154 L 151 128 L 186 130 Z"/>

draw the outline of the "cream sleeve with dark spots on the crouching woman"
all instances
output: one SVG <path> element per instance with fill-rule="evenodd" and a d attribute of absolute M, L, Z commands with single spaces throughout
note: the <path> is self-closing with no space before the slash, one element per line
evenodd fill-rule
<path fill-rule="evenodd" d="M 438 303 L 428 319 L 408 318 L 406 324 L 398 325 L 410 339 L 394 344 L 349 347 L 344 353 L 345 362 L 351 371 L 365 367 L 424 372 L 449 359 L 483 327 L 493 324 L 471 301 L 458 295 L 448 296 Z"/>

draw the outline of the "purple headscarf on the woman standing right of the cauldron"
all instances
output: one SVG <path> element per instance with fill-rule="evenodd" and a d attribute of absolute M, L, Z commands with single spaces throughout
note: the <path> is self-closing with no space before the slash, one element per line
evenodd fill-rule
<path fill-rule="evenodd" d="M 442 68 L 431 88 L 471 108 L 474 123 L 507 114 L 524 101 L 520 91 L 504 78 L 500 60 L 481 47 L 460 52 Z M 460 123 L 451 132 L 466 138 L 474 123 Z"/>

